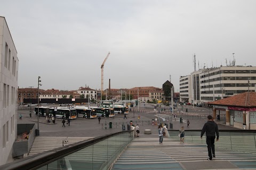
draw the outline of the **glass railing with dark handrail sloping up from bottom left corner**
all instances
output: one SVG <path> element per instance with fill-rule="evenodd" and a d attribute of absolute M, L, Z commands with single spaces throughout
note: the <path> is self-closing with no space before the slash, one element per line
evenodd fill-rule
<path fill-rule="evenodd" d="M 133 131 L 117 132 L 49 150 L 0 169 L 109 169 L 133 137 Z"/>

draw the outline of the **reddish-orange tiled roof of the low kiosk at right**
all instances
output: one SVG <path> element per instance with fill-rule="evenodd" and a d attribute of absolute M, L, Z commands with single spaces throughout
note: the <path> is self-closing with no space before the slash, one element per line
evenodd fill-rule
<path fill-rule="evenodd" d="M 244 92 L 236 96 L 231 96 L 221 100 L 211 101 L 208 104 L 223 105 L 223 106 L 256 107 L 256 92 L 250 92 L 250 93 Z"/>

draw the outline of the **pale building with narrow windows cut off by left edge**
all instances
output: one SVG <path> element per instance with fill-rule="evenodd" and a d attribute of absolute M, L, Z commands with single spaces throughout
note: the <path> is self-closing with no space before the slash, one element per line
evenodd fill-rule
<path fill-rule="evenodd" d="M 0 16 L 0 165 L 12 161 L 12 146 L 17 137 L 17 89 L 19 60 L 10 30 Z"/>

